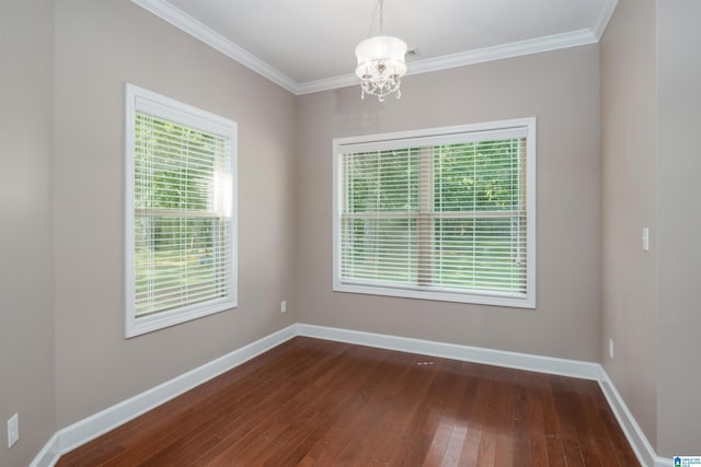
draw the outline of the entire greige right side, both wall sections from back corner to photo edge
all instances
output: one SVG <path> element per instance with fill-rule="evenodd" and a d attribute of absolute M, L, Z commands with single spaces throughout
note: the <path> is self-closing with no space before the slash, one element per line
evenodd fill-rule
<path fill-rule="evenodd" d="M 701 446 L 699 17 L 694 0 L 620 0 L 601 40 L 601 361 L 666 457 Z"/>

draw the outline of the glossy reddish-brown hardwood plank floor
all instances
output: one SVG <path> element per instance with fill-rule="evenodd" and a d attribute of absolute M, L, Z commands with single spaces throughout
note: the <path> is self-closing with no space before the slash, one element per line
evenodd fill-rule
<path fill-rule="evenodd" d="M 295 338 L 57 466 L 637 466 L 598 384 Z"/>

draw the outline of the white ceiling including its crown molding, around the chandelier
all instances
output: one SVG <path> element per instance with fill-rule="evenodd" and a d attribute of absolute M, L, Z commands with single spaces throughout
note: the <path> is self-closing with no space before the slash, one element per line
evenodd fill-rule
<path fill-rule="evenodd" d="M 354 49 L 379 33 L 377 0 L 133 0 L 283 87 L 357 83 Z M 409 74 L 599 40 L 618 0 L 384 0 Z"/>

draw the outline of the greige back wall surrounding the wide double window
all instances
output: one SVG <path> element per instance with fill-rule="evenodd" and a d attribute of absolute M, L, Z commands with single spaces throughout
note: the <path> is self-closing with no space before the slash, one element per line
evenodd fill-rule
<path fill-rule="evenodd" d="M 332 139 L 538 118 L 538 308 L 332 291 Z M 598 361 L 600 157 L 598 45 L 407 77 L 384 103 L 359 87 L 297 106 L 300 322 Z"/>

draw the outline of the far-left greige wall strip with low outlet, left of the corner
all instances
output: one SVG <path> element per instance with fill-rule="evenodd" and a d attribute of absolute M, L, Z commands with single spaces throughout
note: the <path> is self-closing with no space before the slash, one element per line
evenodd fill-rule
<path fill-rule="evenodd" d="M 0 465 L 55 424 L 51 253 L 54 2 L 0 2 Z M 5 422 L 20 417 L 8 450 Z"/>

